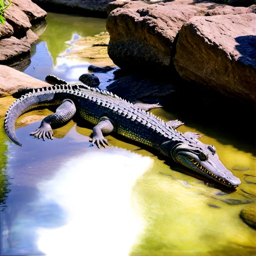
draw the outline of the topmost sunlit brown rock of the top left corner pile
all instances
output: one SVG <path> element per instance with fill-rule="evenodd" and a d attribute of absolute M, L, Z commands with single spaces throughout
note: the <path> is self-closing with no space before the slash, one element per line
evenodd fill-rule
<path fill-rule="evenodd" d="M 30 21 L 44 19 L 47 16 L 47 12 L 34 4 L 31 0 L 12 0 L 12 5 L 22 10 Z"/>

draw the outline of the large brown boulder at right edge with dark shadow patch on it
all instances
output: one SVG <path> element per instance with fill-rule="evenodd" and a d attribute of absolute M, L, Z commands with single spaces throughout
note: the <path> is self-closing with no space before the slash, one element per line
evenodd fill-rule
<path fill-rule="evenodd" d="M 174 65 L 180 76 L 255 102 L 255 17 L 248 13 L 191 18 L 182 26 L 176 46 Z"/>

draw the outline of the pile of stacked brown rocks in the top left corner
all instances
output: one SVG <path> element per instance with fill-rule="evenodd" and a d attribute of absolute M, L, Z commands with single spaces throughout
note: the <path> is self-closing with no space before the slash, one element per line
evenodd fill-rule
<path fill-rule="evenodd" d="M 38 40 L 31 30 L 32 24 L 41 22 L 46 16 L 47 12 L 30 0 L 12 0 L 4 13 L 6 22 L 0 25 L 0 64 L 30 53 L 31 45 Z"/>

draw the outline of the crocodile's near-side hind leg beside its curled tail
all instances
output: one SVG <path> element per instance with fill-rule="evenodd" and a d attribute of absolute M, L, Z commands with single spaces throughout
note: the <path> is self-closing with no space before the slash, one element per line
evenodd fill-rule
<path fill-rule="evenodd" d="M 53 139 L 53 132 L 51 125 L 65 123 L 70 120 L 76 113 L 76 107 L 72 100 L 65 99 L 62 104 L 56 109 L 54 114 L 51 114 L 44 119 L 42 119 L 40 126 L 30 133 L 34 135 L 35 138 L 43 140 L 47 137 L 48 139 Z"/>

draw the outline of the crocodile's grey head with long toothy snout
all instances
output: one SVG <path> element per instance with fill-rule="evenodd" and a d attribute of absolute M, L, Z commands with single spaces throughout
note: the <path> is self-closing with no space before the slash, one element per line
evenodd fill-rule
<path fill-rule="evenodd" d="M 176 162 L 227 187 L 236 188 L 241 184 L 220 161 L 213 145 L 182 143 L 173 148 L 171 155 Z"/>

